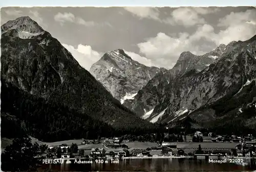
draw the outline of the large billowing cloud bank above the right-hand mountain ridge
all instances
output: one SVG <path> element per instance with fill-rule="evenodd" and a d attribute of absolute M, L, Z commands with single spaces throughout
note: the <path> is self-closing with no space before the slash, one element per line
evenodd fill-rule
<path fill-rule="evenodd" d="M 157 66 L 172 68 L 182 52 L 202 55 L 221 43 L 250 39 L 256 34 L 256 18 L 253 16 L 256 16 L 255 10 L 230 13 L 219 20 L 218 33 L 209 24 L 201 24 L 191 35 L 184 32 L 175 37 L 158 33 L 156 37 L 148 38 L 137 46 L 140 53 Z"/>

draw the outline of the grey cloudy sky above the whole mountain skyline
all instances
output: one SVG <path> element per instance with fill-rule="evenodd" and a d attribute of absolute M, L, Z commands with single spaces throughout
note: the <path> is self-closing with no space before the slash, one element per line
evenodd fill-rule
<path fill-rule="evenodd" d="M 90 70 L 118 48 L 147 66 L 172 68 L 180 54 L 203 55 L 256 35 L 254 7 L 5 7 L 1 24 L 30 16 Z"/>

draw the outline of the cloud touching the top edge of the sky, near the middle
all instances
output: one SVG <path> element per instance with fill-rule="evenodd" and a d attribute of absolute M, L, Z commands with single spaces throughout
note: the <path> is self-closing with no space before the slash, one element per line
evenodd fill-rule
<path fill-rule="evenodd" d="M 151 18 L 160 20 L 159 10 L 154 7 L 124 7 L 126 11 L 140 17 L 140 18 Z"/>

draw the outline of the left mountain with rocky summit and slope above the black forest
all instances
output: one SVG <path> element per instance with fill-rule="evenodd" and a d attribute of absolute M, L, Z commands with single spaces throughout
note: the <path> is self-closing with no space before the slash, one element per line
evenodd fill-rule
<path fill-rule="evenodd" d="M 121 106 L 57 39 L 31 18 L 8 21 L 1 29 L 2 84 L 11 84 L 48 103 L 61 103 L 114 127 L 148 125 Z"/>

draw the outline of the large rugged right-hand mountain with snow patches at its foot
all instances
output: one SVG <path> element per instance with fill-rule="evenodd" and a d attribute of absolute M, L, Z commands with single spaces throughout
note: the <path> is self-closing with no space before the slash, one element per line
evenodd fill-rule
<path fill-rule="evenodd" d="M 151 122 L 172 122 L 188 114 L 199 122 L 239 116 L 240 108 L 254 106 L 255 45 L 256 36 L 221 44 L 203 56 L 184 52 L 173 69 L 154 77 L 124 105 Z"/>

